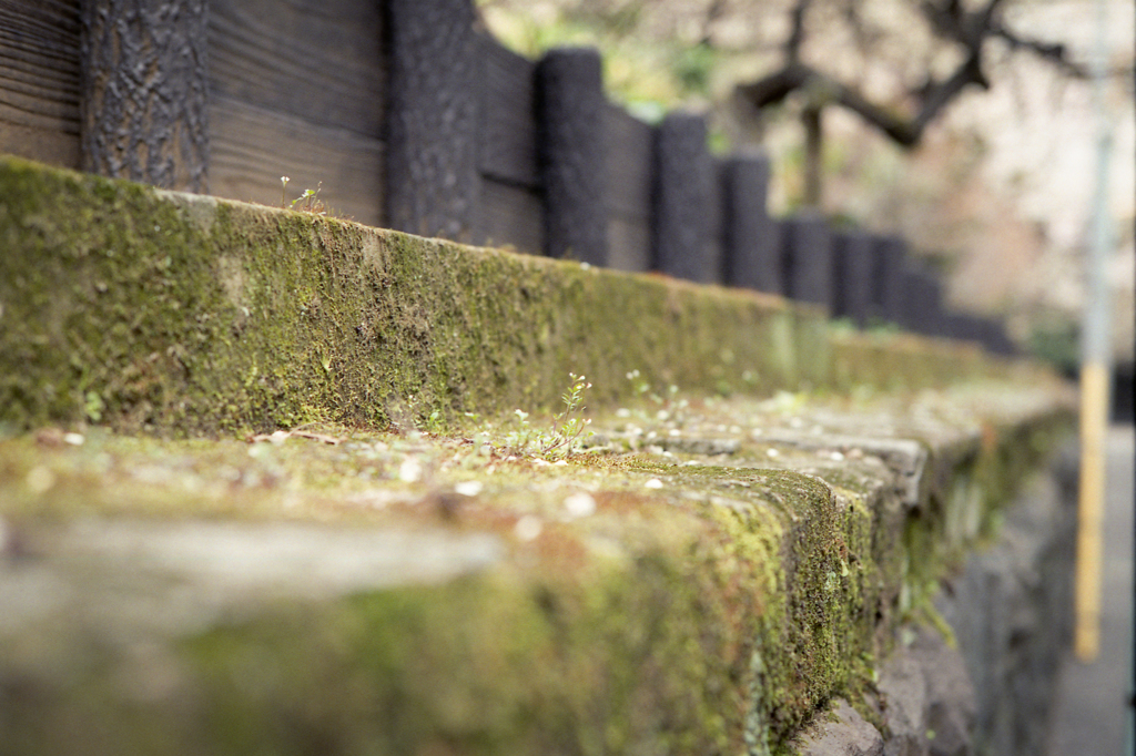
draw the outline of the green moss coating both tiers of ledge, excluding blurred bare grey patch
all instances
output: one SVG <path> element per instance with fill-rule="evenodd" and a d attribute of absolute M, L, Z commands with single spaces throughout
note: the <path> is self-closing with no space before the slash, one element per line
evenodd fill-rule
<path fill-rule="evenodd" d="M 630 397 L 633 369 L 695 396 L 854 384 L 895 388 L 895 400 L 954 379 L 1034 380 L 967 347 L 830 335 L 808 309 L 657 276 L 18 160 L 0 160 L 0 244 L 12 251 L 0 259 L 0 413 L 22 428 L 442 429 L 466 413 L 554 406 L 569 371 L 594 384 L 593 409 Z M 808 418 L 816 396 L 793 412 Z M 736 396 L 696 403 L 718 415 L 705 427 L 749 412 L 757 427 L 763 417 Z M 885 404 L 893 420 L 908 412 Z M 176 684 L 153 699 L 125 697 L 112 669 L 120 660 L 84 648 L 74 680 L 19 697 L 14 721 L 34 724 L 12 731 L 55 753 L 778 749 L 832 697 L 859 699 L 895 623 L 925 612 L 944 571 L 992 531 L 1069 421 L 1053 408 L 1005 420 L 995 410 L 968 410 L 987 422 L 980 439 L 926 439 L 932 472 L 911 510 L 879 468 L 851 461 L 819 473 L 822 482 L 629 455 L 550 470 L 483 455 L 481 443 L 398 436 L 386 438 L 398 454 L 290 442 L 256 461 L 234 442 L 89 434 L 82 451 L 3 442 L 0 514 L 19 527 L 87 513 L 310 518 L 481 529 L 515 548 L 451 585 L 282 604 L 182 640 L 161 678 Z M 738 459 L 753 452 L 740 450 Z M 399 481 L 411 454 L 437 476 L 418 488 Z M 191 464 L 195 477 L 140 482 L 133 471 L 158 457 L 175 471 Z M 87 467 L 68 468 L 75 459 Z M 222 469 L 235 470 L 232 482 L 209 487 Z M 493 489 L 492 505 L 446 509 L 461 476 Z M 550 513 L 562 502 L 550 492 L 585 476 L 598 513 L 559 522 Z M 646 495 L 653 477 L 665 488 Z M 348 510 L 371 481 L 408 501 Z M 533 512 L 549 515 L 546 527 L 521 547 L 513 526 Z M 76 745 L 67 732 L 93 734 Z"/>

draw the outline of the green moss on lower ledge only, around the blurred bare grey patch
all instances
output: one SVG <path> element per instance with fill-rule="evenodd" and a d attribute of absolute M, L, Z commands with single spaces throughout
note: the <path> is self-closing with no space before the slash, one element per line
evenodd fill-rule
<path fill-rule="evenodd" d="M 705 411 L 736 415 L 740 404 Z M 986 446 L 932 464 L 955 460 L 951 479 L 1011 486 L 1039 457 L 1001 445 L 1041 454 L 1059 426 L 1056 415 L 1026 422 L 1020 436 L 1006 426 Z M 179 641 L 159 655 L 156 679 L 167 682 L 153 699 L 137 698 L 134 682 L 122 687 L 135 662 L 68 640 L 84 661 L 66 684 L 12 705 L 32 723 L 9 728 L 30 744 L 24 751 L 50 744 L 48 753 L 69 753 L 78 746 L 67 732 L 94 732 L 85 753 L 778 753 L 833 697 L 860 699 L 899 620 L 935 620 L 930 591 L 958 554 L 942 546 L 950 487 L 929 487 L 907 512 L 867 468 L 833 474 L 836 486 L 629 455 L 566 468 L 498 457 L 490 474 L 490 457 L 460 440 L 432 451 L 421 438 L 385 436 L 379 452 L 382 439 L 367 438 L 376 444 L 353 451 L 266 444 L 251 447 L 265 452 L 256 459 L 234 442 L 100 434 L 76 450 L 0 444 L 0 514 L 17 528 L 82 514 L 303 518 L 487 530 L 509 541 L 521 514 L 545 523 L 478 576 L 268 606 Z M 364 470 L 399 486 L 391 478 L 408 455 L 436 478 L 403 486 L 400 506 L 343 506 L 373 490 L 360 489 Z M 41 468 L 55 482 L 35 498 L 22 481 Z M 170 471 L 158 477 L 165 487 L 132 474 L 142 469 L 149 480 L 156 468 Z M 201 486 L 220 469 L 240 482 L 214 501 Z M 178 470 L 197 482 L 184 485 Z M 469 474 L 492 496 L 450 514 L 432 503 Z M 652 478 L 663 485 L 648 495 Z M 598 511 L 559 522 L 563 489 L 552 484 L 585 480 Z"/>

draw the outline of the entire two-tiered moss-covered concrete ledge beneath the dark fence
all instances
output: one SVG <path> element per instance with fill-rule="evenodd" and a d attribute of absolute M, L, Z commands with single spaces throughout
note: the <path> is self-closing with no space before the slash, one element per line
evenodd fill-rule
<path fill-rule="evenodd" d="M 5 755 L 784 751 L 1071 425 L 776 299 L 15 159 L 0 196 Z M 570 371 L 595 432 L 542 452 Z"/>

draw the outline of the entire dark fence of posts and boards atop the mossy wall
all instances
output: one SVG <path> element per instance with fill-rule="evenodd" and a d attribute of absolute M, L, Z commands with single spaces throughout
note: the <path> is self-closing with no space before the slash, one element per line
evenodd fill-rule
<path fill-rule="evenodd" d="M 632 117 L 594 59 L 528 60 L 479 30 L 473 0 L 0 0 L 0 152 L 269 205 L 289 176 L 287 200 L 321 184 L 369 225 L 1009 348 L 997 324 L 941 317 L 903 240 L 853 253 L 820 219 L 770 218 L 767 162 L 711 158 L 701 118 Z"/>

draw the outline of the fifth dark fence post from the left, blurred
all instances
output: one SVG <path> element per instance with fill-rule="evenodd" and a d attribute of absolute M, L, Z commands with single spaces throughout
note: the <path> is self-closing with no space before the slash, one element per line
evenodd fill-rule
<path fill-rule="evenodd" d="M 780 293 L 780 236 L 769 217 L 769 159 L 736 156 L 722 167 L 722 275 L 730 286 Z"/>

